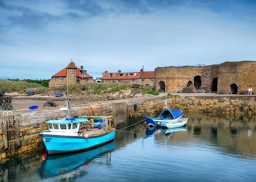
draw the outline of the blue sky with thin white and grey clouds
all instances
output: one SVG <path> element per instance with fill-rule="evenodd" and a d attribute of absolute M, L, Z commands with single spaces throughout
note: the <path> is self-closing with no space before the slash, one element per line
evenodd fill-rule
<path fill-rule="evenodd" d="M 0 0 L 0 79 L 256 60 L 255 0 Z"/>

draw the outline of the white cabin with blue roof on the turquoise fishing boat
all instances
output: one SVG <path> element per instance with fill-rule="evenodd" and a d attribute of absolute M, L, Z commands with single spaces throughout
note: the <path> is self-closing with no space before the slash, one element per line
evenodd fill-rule
<path fill-rule="evenodd" d="M 58 120 L 49 120 L 49 130 L 53 133 L 59 133 L 58 135 L 71 135 L 77 136 L 79 131 L 79 125 L 81 122 L 88 122 L 88 119 L 81 118 L 63 118 Z"/>

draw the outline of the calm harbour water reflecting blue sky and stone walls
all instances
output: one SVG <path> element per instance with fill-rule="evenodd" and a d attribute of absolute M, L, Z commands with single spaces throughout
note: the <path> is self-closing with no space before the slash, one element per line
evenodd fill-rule
<path fill-rule="evenodd" d="M 187 127 L 145 127 L 90 151 L 0 163 L 0 181 L 256 181 L 256 117 L 190 114 Z"/>

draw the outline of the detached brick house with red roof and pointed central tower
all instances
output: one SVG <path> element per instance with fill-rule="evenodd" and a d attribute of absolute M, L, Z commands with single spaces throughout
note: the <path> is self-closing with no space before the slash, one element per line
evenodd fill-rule
<path fill-rule="evenodd" d="M 62 87 L 68 84 L 81 84 L 84 82 L 94 82 L 93 77 L 87 70 L 76 67 L 74 62 L 70 62 L 67 67 L 52 76 L 49 87 Z"/>

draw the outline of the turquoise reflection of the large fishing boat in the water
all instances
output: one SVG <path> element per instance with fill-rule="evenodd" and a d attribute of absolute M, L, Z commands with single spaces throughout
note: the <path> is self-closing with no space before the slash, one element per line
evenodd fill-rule
<path fill-rule="evenodd" d="M 59 175 L 67 174 L 71 171 L 75 171 L 80 166 L 85 168 L 89 167 L 88 162 L 94 159 L 98 155 L 107 153 L 115 148 L 114 142 L 110 142 L 106 145 L 87 150 L 83 152 L 47 155 L 42 154 L 44 162 L 40 167 L 40 176 L 42 178 L 51 178 Z"/>

